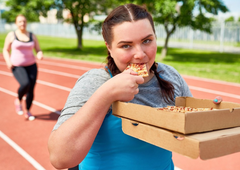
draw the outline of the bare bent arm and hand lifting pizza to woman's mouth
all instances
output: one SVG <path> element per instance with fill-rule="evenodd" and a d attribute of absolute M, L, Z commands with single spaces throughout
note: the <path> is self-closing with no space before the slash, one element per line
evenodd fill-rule
<path fill-rule="evenodd" d="M 100 86 L 77 113 L 51 133 L 48 148 L 53 166 L 61 169 L 79 164 L 90 150 L 111 104 L 132 100 L 143 81 L 126 71 Z"/>

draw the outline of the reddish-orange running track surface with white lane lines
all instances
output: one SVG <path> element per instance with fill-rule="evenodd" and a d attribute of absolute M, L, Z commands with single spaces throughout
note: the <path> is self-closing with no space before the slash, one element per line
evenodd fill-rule
<path fill-rule="evenodd" d="M 103 64 L 45 58 L 37 62 L 38 80 L 31 112 L 34 121 L 26 121 L 15 113 L 13 101 L 18 83 L 0 55 L 0 169 L 55 169 L 49 162 L 47 140 L 58 114 L 76 80 L 87 70 Z M 196 98 L 240 103 L 240 84 L 183 76 Z M 207 161 L 173 153 L 175 166 L 182 170 L 237 170 L 240 153 Z"/>

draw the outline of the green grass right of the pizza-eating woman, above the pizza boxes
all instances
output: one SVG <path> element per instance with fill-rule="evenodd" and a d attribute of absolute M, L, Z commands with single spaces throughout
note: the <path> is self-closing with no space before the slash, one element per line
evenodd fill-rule
<path fill-rule="evenodd" d="M 170 48 L 163 63 L 181 74 L 240 83 L 240 54 Z"/>

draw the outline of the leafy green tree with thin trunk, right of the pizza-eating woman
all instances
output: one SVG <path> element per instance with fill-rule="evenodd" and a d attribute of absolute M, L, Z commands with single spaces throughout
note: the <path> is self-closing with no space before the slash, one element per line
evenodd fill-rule
<path fill-rule="evenodd" d="M 227 12 L 221 0 L 137 0 L 145 4 L 156 23 L 164 25 L 167 33 L 160 59 L 167 54 L 168 41 L 177 27 L 190 26 L 194 30 L 211 33 L 212 17 L 218 11 Z M 197 14 L 196 14 L 197 12 Z"/>

